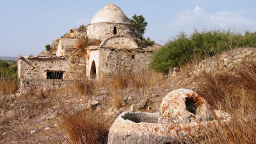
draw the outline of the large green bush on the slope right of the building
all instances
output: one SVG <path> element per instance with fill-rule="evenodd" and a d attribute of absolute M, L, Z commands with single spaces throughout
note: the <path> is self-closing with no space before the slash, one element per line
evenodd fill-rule
<path fill-rule="evenodd" d="M 167 73 L 172 67 L 237 47 L 256 47 L 256 33 L 246 31 L 242 35 L 232 31 L 195 31 L 190 36 L 179 33 L 155 52 L 149 68 Z"/>

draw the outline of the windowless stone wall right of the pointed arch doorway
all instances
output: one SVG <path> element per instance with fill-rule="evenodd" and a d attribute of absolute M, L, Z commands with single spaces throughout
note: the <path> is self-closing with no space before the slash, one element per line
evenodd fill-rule
<path fill-rule="evenodd" d="M 145 49 L 100 49 L 99 74 L 113 76 L 118 70 L 136 71 L 138 68 L 148 68 L 150 57 L 155 51 Z"/>

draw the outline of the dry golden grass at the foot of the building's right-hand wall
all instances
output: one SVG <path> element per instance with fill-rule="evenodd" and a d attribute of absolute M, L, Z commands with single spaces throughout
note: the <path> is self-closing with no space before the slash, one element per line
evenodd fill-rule
<path fill-rule="evenodd" d="M 111 106 L 119 109 L 122 108 L 121 99 L 125 90 L 138 90 L 144 93 L 145 89 L 152 88 L 159 81 L 163 81 L 163 76 L 156 72 L 142 68 L 130 72 L 120 68 L 112 77 L 103 76 L 100 85 L 111 95 Z"/>

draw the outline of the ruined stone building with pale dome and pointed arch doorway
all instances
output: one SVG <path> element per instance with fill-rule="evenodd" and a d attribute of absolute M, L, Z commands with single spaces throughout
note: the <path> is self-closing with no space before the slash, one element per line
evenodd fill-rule
<path fill-rule="evenodd" d="M 104 6 L 93 17 L 86 26 L 84 40 L 89 44 L 85 51 L 79 49 L 81 40 L 60 38 L 54 56 L 19 57 L 20 87 L 63 85 L 76 80 L 113 76 L 120 68 L 147 68 L 155 51 L 138 46 L 133 26 L 115 4 Z"/>

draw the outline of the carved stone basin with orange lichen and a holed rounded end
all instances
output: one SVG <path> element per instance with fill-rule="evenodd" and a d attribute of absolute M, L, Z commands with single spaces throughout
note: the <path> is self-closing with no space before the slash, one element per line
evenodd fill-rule
<path fill-rule="evenodd" d="M 195 93 L 186 89 L 179 89 L 178 91 L 176 90 L 174 93 L 177 92 L 182 93 L 182 95 L 186 95 L 188 93 Z M 168 93 L 166 97 L 168 97 L 169 100 L 173 100 L 170 99 L 170 94 L 173 95 L 173 92 Z M 181 97 L 182 95 L 179 94 L 179 97 Z M 198 95 L 194 96 L 199 97 Z M 166 97 L 161 104 L 162 109 L 163 106 L 166 107 Z M 200 97 L 200 99 L 202 99 L 203 102 L 206 102 L 202 97 Z M 180 100 L 185 103 L 186 97 L 182 97 L 182 99 Z M 172 102 L 175 103 L 175 101 Z M 166 108 L 165 110 L 168 111 L 167 113 L 170 113 L 170 111 L 172 111 L 173 109 L 172 106 L 176 106 L 176 104 L 169 104 L 168 106 L 170 106 L 170 108 Z M 184 111 L 188 111 L 188 113 L 185 113 L 184 115 L 182 115 L 182 113 L 181 115 L 176 115 L 177 113 L 172 113 L 173 115 L 163 115 L 163 113 L 159 114 L 129 111 L 122 113 L 118 116 L 118 118 L 116 118 L 115 122 L 109 130 L 108 144 L 174 143 L 175 141 L 177 142 L 179 138 L 186 139 L 189 138 L 189 136 L 198 136 L 198 134 L 202 134 L 202 129 L 207 129 L 207 131 L 211 131 L 211 127 L 218 127 L 220 123 L 230 121 L 230 115 L 223 111 L 211 109 L 211 107 L 209 107 L 207 103 L 205 103 L 204 106 L 207 106 L 206 109 L 208 110 L 205 111 L 205 108 L 204 110 L 201 109 L 201 111 L 204 111 L 203 114 L 196 113 L 196 111 L 200 111 L 200 108 L 196 108 L 192 111 L 191 109 L 186 108 L 188 104 L 181 104 L 180 106 L 181 108 L 177 109 L 178 112 L 185 109 Z M 182 109 L 183 106 L 185 106 L 184 109 Z M 191 111 L 193 112 L 192 114 L 190 114 Z M 190 120 L 187 117 L 189 116 L 188 114 L 195 117 L 198 116 L 198 118 L 190 118 Z M 178 116 L 178 118 L 175 118 L 175 116 Z M 168 117 L 170 119 L 168 119 Z M 186 120 L 182 120 L 182 118 Z"/>

